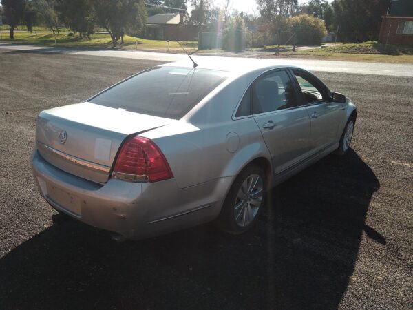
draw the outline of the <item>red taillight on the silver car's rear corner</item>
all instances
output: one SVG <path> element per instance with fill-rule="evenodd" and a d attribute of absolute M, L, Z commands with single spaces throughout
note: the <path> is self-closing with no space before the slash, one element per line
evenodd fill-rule
<path fill-rule="evenodd" d="M 156 182 L 173 178 L 171 168 L 160 149 L 142 136 L 134 136 L 125 142 L 118 154 L 112 176 L 134 182 Z"/>

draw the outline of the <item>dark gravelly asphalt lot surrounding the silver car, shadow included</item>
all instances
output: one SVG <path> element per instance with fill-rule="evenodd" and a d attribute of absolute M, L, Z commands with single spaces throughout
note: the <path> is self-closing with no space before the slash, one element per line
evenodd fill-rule
<path fill-rule="evenodd" d="M 0 309 L 412 309 L 413 78 L 319 72 L 357 103 L 353 149 L 275 188 L 247 234 L 53 225 L 36 115 L 156 64 L 0 50 Z"/>

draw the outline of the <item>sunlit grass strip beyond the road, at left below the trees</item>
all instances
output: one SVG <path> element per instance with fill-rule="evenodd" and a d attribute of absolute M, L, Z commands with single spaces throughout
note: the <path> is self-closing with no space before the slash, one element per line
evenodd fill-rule
<path fill-rule="evenodd" d="M 56 44 L 54 39 L 56 39 Z M 138 45 L 136 45 L 138 41 Z M 112 39 L 109 34 L 92 34 L 90 39 L 81 39 L 78 36 L 70 36 L 68 33 L 52 34 L 51 32 L 37 32 L 37 35 L 30 32 L 14 32 L 14 40 L 10 40 L 9 33 L 3 32 L 3 43 L 28 44 L 28 45 L 43 45 L 57 46 L 65 48 L 112 48 Z M 186 50 L 192 52 L 198 48 L 197 41 L 180 42 Z M 129 50 L 167 50 L 168 43 L 165 40 L 148 40 L 138 37 L 125 36 L 124 43 L 116 48 L 124 48 Z M 175 42 L 169 42 L 171 51 L 180 49 L 180 45 Z M 182 51 L 182 49 L 181 49 Z"/>

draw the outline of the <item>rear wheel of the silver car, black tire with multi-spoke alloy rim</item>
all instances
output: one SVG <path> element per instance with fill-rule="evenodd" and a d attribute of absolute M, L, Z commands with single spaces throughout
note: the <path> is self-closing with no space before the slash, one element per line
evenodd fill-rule
<path fill-rule="evenodd" d="M 261 167 L 245 167 L 229 189 L 220 216 L 216 220 L 218 227 L 235 235 L 251 229 L 264 207 L 267 185 L 266 175 Z"/>

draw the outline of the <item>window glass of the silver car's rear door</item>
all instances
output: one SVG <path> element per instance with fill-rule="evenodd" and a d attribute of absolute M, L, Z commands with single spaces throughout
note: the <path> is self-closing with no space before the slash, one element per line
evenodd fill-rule
<path fill-rule="evenodd" d="M 253 113 L 287 109 L 297 106 L 295 89 L 286 71 L 276 71 L 262 76 L 255 82 Z"/>

